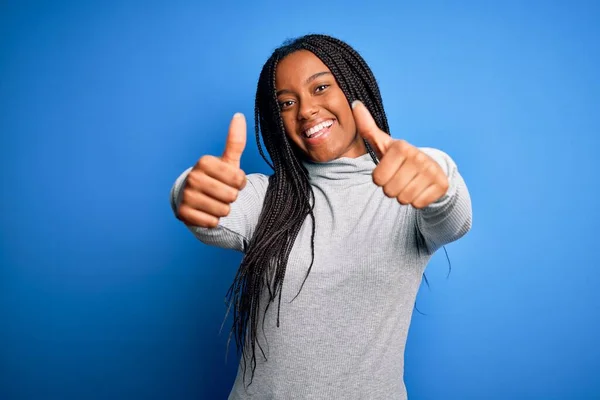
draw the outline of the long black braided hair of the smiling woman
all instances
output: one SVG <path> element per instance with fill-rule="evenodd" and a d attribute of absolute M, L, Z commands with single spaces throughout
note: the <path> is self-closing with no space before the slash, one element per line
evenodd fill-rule
<path fill-rule="evenodd" d="M 285 134 L 275 88 L 275 72 L 278 63 L 299 50 L 308 50 L 321 59 L 335 77 L 348 103 L 361 100 L 371 112 L 377 126 L 389 134 L 387 117 L 375 77 L 358 52 L 343 41 L 326 35 L 302 36 L 285 42 L 264 64 L 256 90 L 254 128 L 259 152 L 274 173 L 269 177 L 269 185 L 255 233 L 234 282 L 227 292 L 229 307 L 233 307 L 230 339 L 234 334 L 238 351 L 243 349 L 244 382 L 247 359 L 251 363 L 250 383 L 256 368 L 257 346 L 266 359 L 257 341 L 259 311 L 261 306 L 265 306 L 266 315 L 271 303 L 277 300 L 277 326 L 279 326 L 281 289 L 288 257 L 307 217 L 310 217 L 313 222 L 312 261 L 308 266 L 304 282 L 314 262 L 314 194 L 309 183 L 308 171 L 301 162 L 302 155 Z M 260 143 L 260 134 L 272 163 L 265 156 Z M 373 161 L 378 163 L 377 156 L 366 141 L 365 146 Z M 264 300 L 267 301 L 266 304 L 261 303 Z"/>

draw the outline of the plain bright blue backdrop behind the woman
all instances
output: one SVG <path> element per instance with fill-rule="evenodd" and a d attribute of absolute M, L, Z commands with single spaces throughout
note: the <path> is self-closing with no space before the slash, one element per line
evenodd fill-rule
<path fill-rule="evenodd" d="M 448 152 L 472 195 L 450 277 L 439 252 L 419 292 L 411 398 L 598 398 L 599 19 L 593 1 L 2 2 L 0 398 L 226 398 L 241 255 L 196 241 L 169 189 L 236 111 L 253 126 L 262 64 L 309 32 L 358 49 L 392 135 Z M 252 135 L 242 167 L 269 172 Z"/>

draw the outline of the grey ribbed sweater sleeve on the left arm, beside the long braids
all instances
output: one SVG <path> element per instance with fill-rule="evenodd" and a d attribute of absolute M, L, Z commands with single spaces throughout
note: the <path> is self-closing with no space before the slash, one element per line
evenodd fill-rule
<path fill-rule="evenodd" d="M 171 188 L 171 208 L 175 216 L 177 216 L 183 188 L 190 171 L 191 168 L 184 171 Z M 266 175 L 249 174 L 246 177 L 248 182 L 240 191 L 236 201 L 231 203 L 229 215 L 220 218 L 216 228 L 202 228 L 186 224 L 198 240 L 208 245 L 246 252 L 250 238 L 258 224 L 269 185 L 269 178 Z"/>

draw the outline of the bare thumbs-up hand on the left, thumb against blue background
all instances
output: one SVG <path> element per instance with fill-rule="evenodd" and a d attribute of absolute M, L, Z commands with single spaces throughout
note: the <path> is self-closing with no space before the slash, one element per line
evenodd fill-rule
<path fill-rule="evenodd" d="M 221 157 L 201 157 L 187 176 L 178 217 L 188 225 L 214 228 L 246 185 L 240 159 L 246 147 L 246 119 L 235 114 Z"/>

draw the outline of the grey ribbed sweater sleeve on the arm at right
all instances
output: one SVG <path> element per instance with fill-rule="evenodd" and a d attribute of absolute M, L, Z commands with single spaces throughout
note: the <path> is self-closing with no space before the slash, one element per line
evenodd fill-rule
<path fill-rule="evenodd" d="M 467 185 L 456 163 L 441 150 L 420 148 L 432 157 L 448 177 L 449 188 L 444 196 L 417 211 L 417 229 L 430 253 L 460 239 L 471 229 L 473 212 Z"/>

